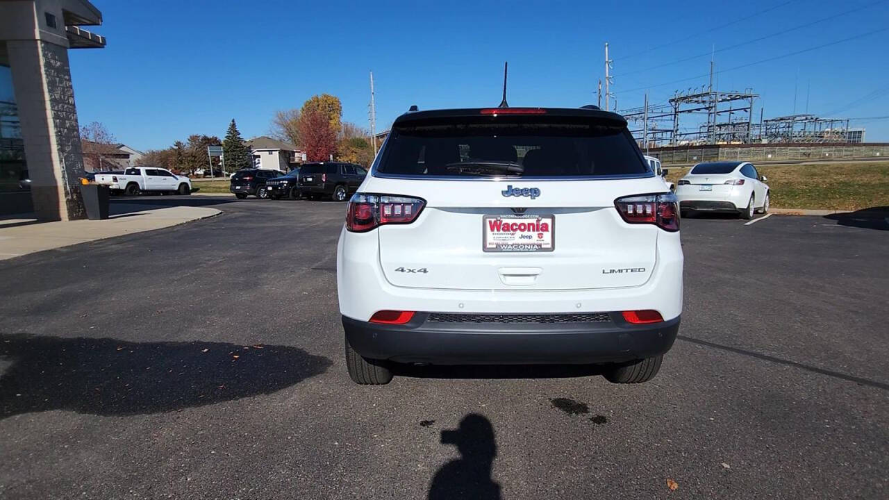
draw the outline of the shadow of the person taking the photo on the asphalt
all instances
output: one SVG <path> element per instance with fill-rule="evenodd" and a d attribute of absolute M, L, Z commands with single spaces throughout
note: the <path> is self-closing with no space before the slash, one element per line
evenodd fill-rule
<path fill-rule="evenodd" d="M 429 486 L 429 500 L 500 500 L 500 484 L 491 478 L 497 443 L 490 420 L 466 415 L 458 429 L 441 431 L 441 443 L 455 445 L 461 456 L 438 469 Z"/>

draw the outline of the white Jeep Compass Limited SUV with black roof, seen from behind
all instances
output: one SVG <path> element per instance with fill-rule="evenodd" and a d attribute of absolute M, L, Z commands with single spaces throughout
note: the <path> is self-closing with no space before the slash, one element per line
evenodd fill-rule
<path fill-rule="evenodd" d="M 410 111 L 348 204 L 348 374 L 393 363 L 601 364 L 653 378 L 676 339 L 677 201 L 619 115 Z"/>

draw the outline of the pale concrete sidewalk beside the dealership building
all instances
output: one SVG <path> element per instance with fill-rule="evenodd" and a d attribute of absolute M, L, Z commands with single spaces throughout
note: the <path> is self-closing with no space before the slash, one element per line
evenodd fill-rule
<path fill-rule="evenodd" d="M 0 260 L 97 239 L 159 230 L 216 214 L 220 211 L 215 208 L 171 206 L 111 215 L 107 221 L 38 222 L 27 216 L 3 219 L 0 220 Z"/>

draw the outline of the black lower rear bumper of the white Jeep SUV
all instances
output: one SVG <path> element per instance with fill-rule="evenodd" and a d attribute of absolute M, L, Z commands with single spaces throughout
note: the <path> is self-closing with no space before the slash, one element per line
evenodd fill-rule
<path fill-rule="evenodd" d="M 669 351 L 679 317 L 652 325 L 433 323 L 417 313 L 406 325 L 342 317 L 346 339 L 365 358 L 439 365 L 589 364 L 645 359 Z"/>

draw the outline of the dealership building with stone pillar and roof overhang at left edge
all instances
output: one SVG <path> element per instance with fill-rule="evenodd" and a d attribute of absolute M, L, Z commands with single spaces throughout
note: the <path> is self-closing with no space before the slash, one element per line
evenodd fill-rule
<path fill-rule="evenodd" d="M 86 0 L 0 0 L 0 214 L 84 217 L 69 49 L 102 48 Z"/>

